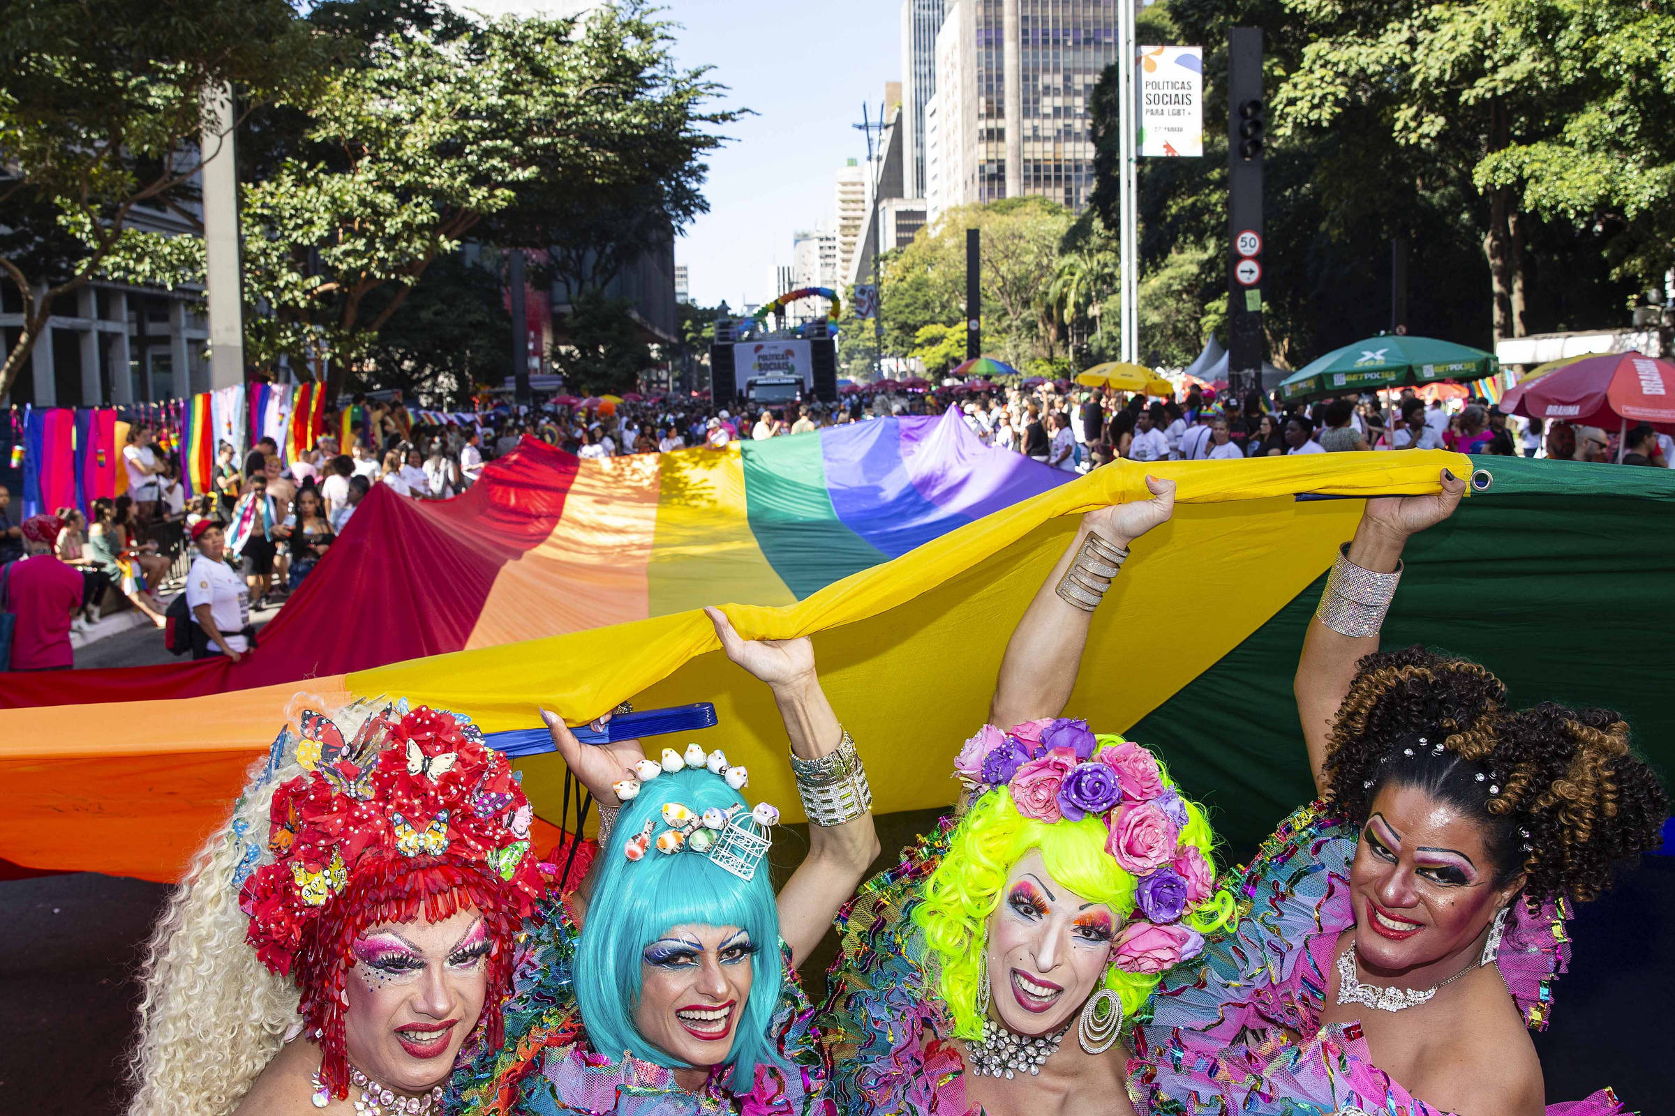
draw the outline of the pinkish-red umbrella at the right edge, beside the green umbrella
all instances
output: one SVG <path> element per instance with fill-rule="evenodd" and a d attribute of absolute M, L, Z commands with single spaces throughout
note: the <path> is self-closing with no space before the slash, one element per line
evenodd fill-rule
<path fill-rule="evenodd" d="M 1621 433 L 1645 422 L 1675 433 L 1675 365 L 1636 351 L 1588 356 L 1516 385 L 1501 397 L 1501 410 Z"/>

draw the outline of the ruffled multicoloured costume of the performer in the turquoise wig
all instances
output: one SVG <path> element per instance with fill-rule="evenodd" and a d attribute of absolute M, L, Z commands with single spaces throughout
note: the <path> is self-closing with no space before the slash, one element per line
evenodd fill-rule
<path fill-rule="evenodd" d="M 829 1116 L 814 1009 L 784 954 L 774 1049 L 786 1067 L 757 1066 L 754 1088 L 732 1093 L 715 1072 L 698 1093 L 667 1066 L 595 1052 L 581 1026 L 573 970 L 580 930 L 558 900 L 543 904 L 518 945 L 506 1041 L 466 1051 L 444 1111 L 469 1116 Z"/>

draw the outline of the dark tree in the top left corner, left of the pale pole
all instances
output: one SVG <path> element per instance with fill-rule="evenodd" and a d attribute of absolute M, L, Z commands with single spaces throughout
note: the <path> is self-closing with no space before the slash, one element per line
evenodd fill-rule
<path fill-rule="evenodd" d="M 10 390 L 57 299 L 111 274 L 171 283 L 201 244 L 134 226 L 186 209 L 206 97 L 241 112 L 307 97 L 320 55 L 285 0 L 8 0 L 0 5 L 0 268 L 23 308 Z"/>

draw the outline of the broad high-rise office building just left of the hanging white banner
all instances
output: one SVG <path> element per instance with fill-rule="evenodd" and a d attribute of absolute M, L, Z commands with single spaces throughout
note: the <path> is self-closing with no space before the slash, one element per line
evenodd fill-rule
<path fill-rule="evenodd" d="M 1116 57 L 1117 8 L 1106 0 L 951 0 L 925 120 L 930 219 L 1030 194 L 1087 206 L 1090 102 Z"/>

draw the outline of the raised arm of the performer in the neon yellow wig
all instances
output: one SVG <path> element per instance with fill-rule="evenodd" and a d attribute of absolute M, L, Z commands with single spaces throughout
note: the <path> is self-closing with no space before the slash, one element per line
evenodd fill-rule
<path fill-rule="evenodd" d="M 1059 716 L 1075 688 L 1075 673 L 1082 664 L 1082 649 L 1087 646 L 1087 627 L 1094 612 L 1077 607 L 1059 592 L 1059 586 L 1070 574 L 1072 564 L 1082 555 L 1089 532 L 1099 535 L 1090 557 L 1080 559 L 1084 566 L 1102 566 L 1100 554 L 1111 550 L 1127 550 L 1134 539 L 1139 539 L 1157 524 L 1166 522 L 1174 514 L 1174 482 L 1146 477 L 1146 487 L 1152 499 L 1132 500 L 1100 507 L 1082 515 L 1082 525 L 1075 539 L 1059 557 L 1047 581 L 1042 582 L 1023 619 L 1018 621 L 1012 639 L 1007 641 L 1007 654 L 1000 661 L 1000 678 L 995 683 L 995 698 L 988 706 L 988 723 L 998 728 L 1012 728 L 1023 721 L 1044 716 Z M 1104 547 L 1104 549 L 1100 549 Z M 1106 567 L 1109 569 L 1109 567 Z M 1079 582 L 1099 586 L 1100 577 L 1085 569 L 1077 574 Z M 1109 584 L 1109 582 L 1107 582 Z M 1087 589 L 1079 589 L 1085 599 L 1097 599 Z M 1077 589 L 1067 591 L 1075 597 Z"/>

